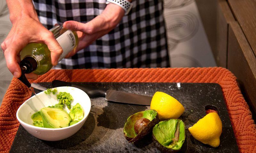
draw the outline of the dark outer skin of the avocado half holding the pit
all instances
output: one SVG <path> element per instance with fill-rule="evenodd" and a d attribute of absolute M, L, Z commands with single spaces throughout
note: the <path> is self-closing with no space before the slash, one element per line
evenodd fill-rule
<path fill-rule="evenodd" d="M 126 140 L 129 141 L 129 143 L 136 142 L 140 139 L 142 139 L 144 136 L 148 135 L 149 133 L 152 132 L 153 127 L 159 122 L 158 114 L 156 117 L 148 123 L 148 125 L 134 138 L 126 137 Z"/>

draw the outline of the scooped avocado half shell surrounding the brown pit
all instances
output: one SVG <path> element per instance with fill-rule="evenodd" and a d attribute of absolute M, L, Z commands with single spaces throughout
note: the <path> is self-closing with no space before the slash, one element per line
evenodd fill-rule
<path fill-rule="evenodd" d="M 140 133 L 136 134 L 134 130 L 134 125 L 136 121 L 138 121 L 141 118 L 146 118 L 150 122 L 140 131 Z M 158 114 L 153 109 L 135 113 L 128 117 L 127 122 L 124 124 L 124 136 L 129 141 L 129 143 L 138 141 L 144 136 L 146 136 L 148 133 L 150 133 L 152 131 L 152 128 L 158 122 Z"/>

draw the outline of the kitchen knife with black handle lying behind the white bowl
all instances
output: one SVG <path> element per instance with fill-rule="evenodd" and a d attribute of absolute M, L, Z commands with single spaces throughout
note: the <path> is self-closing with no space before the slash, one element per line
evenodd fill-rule
<path fill-rule="evenodd" d="M 123 91 L 116 91 L 107 88 L 101 88 L 89 85 L 80 85 L 72 82 L 65 82 L 60 80 L 53 80 L 52 87 L 77 87 L 83 90 L 90 98 L 91 97 L 105 97 L 107 101 L 114 101 L 120 103 L 136 104 L 136 105 L 150 105 L 152 97 L 132 94 Z"/>

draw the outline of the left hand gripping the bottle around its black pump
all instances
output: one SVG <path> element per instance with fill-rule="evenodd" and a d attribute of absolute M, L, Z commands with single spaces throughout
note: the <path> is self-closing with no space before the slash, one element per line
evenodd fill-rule
<path fill-rule="evenodd" d="M 62 48 L 55 39 L 53 33 L 47 30 L 38 20 L 38 17 L 21 15 L 11 19 L 12 29 L 5 38 L 1 47 L 6 59 L 6 65 L 12 75 L 16 78 L 21 76 L 20 70 L 20 50 L 28 43 L 44 43 L 51 51 L 52 65 L 57 65 Z M 26 74 L 28 79 L 37 79 L 34 73 Z"/>

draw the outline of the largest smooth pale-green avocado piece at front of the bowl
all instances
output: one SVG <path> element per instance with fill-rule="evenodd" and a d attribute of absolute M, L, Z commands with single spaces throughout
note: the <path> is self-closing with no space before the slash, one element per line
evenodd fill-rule
<path fill-rule="evenodd" d="M 68 113 L 59 108 L 42 108 L 40 110 L 44 128 L 64 128 L 68 127 L 71 121 Z"/>

